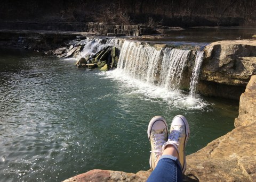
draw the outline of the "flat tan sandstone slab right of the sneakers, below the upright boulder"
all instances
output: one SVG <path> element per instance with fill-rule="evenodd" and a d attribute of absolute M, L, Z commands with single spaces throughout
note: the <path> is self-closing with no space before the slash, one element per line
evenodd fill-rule
<path fill-rule="evenodd" d="M 255 129 L 255 123 L 235 128 L 188 155 L 186 175 L 199 181 L 255 181 Z"/>

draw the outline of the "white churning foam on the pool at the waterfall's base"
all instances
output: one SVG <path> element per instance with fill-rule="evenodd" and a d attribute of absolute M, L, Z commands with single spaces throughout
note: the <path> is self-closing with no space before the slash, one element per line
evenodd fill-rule
<path fill-rule="evenodd" d="M 119 68 L 108 72 L 100 72 L 99 74 L 103 76 L 103 79 L 111 79 L 119 82 L 118 86 L 124 93 L 137 94 L 140 99 L 153 102 L 166 102 L 170 107 L 189 110 L 202 110 L 208 105 L 208 103 L 201 98 L 190 97 L 188 93 L 181 90 L 170 90 L 162 86 L 134 79 L 134 77 Z"/>

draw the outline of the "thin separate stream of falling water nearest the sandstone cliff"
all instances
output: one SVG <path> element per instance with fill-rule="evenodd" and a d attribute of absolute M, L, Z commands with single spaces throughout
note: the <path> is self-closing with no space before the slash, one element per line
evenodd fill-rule
<path fill-rule="evenodd" d="M 199 77 L 200 67 L 203 62 L 204 57 L 204 51 L 197 51 L 196 53 L 196 60 L 195 60 L 195 66 L 193 68 L 192 77 L 190 81 L 190 87 L 189 87 L 189 96 L 195 97 L 195 91 L 197 86 L 197 81 Z"/>

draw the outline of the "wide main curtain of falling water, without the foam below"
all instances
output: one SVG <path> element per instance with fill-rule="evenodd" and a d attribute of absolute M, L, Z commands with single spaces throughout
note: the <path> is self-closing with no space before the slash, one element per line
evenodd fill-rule
<path fill-rule="evenodd" d="M 190 50 L 161 48 L 149 44 L 125 41 L 117 68 L 135 79 L 169 89 L 178 90 Z"/>

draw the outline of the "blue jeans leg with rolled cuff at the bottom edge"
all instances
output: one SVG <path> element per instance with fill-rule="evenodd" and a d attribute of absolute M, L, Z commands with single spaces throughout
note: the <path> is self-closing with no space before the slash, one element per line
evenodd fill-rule
<path fill-rule="evenodd" d="M 172 155 L 162 155 L 147 182 L 183 181 L 181 164 Z"/>

